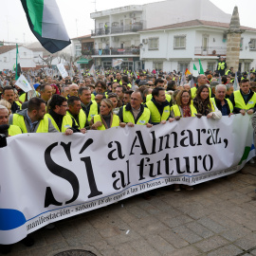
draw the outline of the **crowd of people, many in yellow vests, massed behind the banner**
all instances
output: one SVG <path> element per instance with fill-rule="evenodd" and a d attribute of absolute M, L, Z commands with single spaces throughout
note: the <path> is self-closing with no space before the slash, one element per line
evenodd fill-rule
<path fill-rule="evenodd" d="M 220 65 L 220 69 L 222 65 Z M 225 67 L 226 68 L 226 67 Z M 221 119 L 252 115 L 256 129 L 256 73 L 222 74 L 208 70 L 193 77 L 147 70 L 88 70 L 71 77 L 33 76 L 33 96 L 15 85 L 11 73 L 0 76 L 0 125 L 9 124 L 9 136 L 22 133 L 86 133 L 111 127 L 164 125 L 183 118 Z M 254 70 L 255 71 L 255 70 Z M 223 73 L 223 72 L 222 72 Z M 236 82 L 236 86 L 234 83 Z M 174 191 L 192 190 L 174 185 Z M 150 193 L 143 197 L 149 199 Z M 32 244 L 27 238 L 27 246 Z M 9 252 L 9 248 L 3 249 Z"/>

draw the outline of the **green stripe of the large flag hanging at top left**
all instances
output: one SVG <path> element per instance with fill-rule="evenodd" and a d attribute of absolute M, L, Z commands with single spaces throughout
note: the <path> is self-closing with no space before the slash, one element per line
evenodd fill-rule
<path fill-rule="evenodd" d="M 27 11 L 34 30 L 42 36 L 44 0 L 27 0 Z"/>

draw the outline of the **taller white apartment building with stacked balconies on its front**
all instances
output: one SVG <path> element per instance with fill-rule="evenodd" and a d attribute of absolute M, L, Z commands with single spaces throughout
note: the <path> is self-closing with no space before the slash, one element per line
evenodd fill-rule
<path fill-rule="evenodd" d="M 140 60 L 144 54 L 140 50 L 140 30 L 193 19 L 229 23 L 230 17 L 209 0 L 167 0 L 94 12 L 91 13 L 95 20 L 92 57 L 96 66 L 111 67 L 113 59 L 122 59 L 123 67 L 145 68 Z"/>

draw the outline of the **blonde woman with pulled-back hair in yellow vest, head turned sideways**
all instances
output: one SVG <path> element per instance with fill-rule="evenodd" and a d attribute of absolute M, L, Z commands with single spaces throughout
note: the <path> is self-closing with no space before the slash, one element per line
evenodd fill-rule
<path fill-rule="evenodd" d="M 113 114 L 113 103 L 109 99 L 101 101 L 100 115 L 91 119 L 91 128 L 93 130 L 106 130 L 119 126 L 119 116 Z"/>

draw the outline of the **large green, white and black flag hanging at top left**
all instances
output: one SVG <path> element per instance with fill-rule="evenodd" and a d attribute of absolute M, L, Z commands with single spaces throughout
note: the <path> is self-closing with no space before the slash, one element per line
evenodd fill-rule
<path fill-rule="evenodd" d="M 28 25 L 42 46 L 55 53 L 71 44 L 56 0 L 21 0 Z"/>

